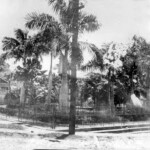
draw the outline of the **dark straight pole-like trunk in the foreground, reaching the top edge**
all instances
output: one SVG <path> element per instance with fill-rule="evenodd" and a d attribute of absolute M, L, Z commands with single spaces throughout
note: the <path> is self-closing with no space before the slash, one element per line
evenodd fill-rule
<path fill-rule="evenodd" d="M 71 56 L 71 92 L 70 92 L 70 118 L 69 134 L 75 134 L 76 120 L 76 97 L 77 97 L 77 57 L 78 57 L 78 18 L 79 18 L 79 0 L 73 1 L 74 17 L 72 22 L 72 56 Z"/>

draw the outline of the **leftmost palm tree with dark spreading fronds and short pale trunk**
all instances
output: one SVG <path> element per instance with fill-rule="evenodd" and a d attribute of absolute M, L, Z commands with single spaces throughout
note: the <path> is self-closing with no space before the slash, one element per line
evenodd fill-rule
<path fill-rule="evenodd" d="M 21 29 L 15 30 L 15 38 L 4 37 L 3 41 L 3 58 L 14 58 L 15 62 L 22 61 L 23 66 L 26 67 L 27 58 L 31 55 L 32 44 L 28 37 L 28 32 Z M 25 102 L 25 86 L 26 81 L 23 82 L 20 95 L 20 103 Z"/>

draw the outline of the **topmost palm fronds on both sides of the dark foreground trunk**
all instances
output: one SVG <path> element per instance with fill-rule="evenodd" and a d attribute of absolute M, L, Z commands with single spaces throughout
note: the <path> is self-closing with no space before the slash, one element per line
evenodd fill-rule
<path fill-rule="evenodd" d="M 53 10 L 59 14 L 59 19 L 66 29 L 66 32 L 73 32 L 73 20 L 74 17 L 74 1 L 70 0 L 49 0 L 49 5 L 52 5 Z M 79 4 L 79 9 L 84 8 L 84 4 Z M 84 31 L 96 31 L 99 29 L 99 23 L 94 15 L 87 15 L 83 11 L 79 11 L 79 32 Z"/>

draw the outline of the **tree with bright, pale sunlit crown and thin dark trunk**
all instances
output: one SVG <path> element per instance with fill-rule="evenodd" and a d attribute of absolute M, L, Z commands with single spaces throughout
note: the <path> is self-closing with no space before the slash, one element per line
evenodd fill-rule
<path fill-rule="evenodd" d="M 114 88 L 116 80 L 116 72 L 121 69 L 122 61 L 121 57 L 126 55 L 126 48 L 122 45 L 108 43 L 103 45 L 101 49 L 95 49 L 95 57 L 93 60 L 82 66 L 83 70 L 96 69 L 101 72 L 105 80 L 107 80 L 108 86 L 105 87 L 108 90 L 108 102 L 110 112 L 114 113 Z"/>

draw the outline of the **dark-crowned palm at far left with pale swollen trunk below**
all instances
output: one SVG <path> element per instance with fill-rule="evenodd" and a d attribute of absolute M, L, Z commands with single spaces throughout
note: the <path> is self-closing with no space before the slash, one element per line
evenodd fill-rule
<path fill-rule="evenodd" d="M 3 58 L 14 58 L 15 62 L 21 61 L 23 70 L 26 72 L 29 61 L 39 62 L 41 50 L 46 51 L 46 48 L 38 40 L 35 35 L 33 37 L 28 36 L 27 31 L 21 29 L 15 30 L 15 38 L 4 37 L 3 41 Z M 24 76 L 22 80 L 22 88 L 20 94 L 20 103 L 24 104 L 26 100 L 26 83 L 28 77 Z"/>

